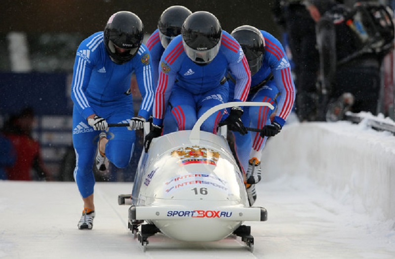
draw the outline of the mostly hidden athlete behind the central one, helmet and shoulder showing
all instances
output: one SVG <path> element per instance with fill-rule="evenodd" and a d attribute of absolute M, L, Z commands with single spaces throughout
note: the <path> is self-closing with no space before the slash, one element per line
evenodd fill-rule
<path fill-rule="evenodd" d="M 181 5 L 168 7 L 160 15 L 158 29 L 148 38 L 147 47 L 150 50 L 151 62 L 154 68 L 152 73 L 154 75 L 154 86 L 158 84 L 159 61 L 164 49 L 174 37 L 181 34 L 181 27 L 190 14 L 192 12 Z M 168 107 L 163 119 L 163 134 L 177 130 L 176 122 L 170 111 L 171 108 Z"/>

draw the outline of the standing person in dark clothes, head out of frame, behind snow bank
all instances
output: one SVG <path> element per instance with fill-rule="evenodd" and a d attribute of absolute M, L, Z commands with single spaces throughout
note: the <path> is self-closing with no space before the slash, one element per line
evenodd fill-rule
<path fill-rule="evenodd" d="M 285 30 L 295 65 L 296 107 L 300 121 L 317 118 L 318 50 L 315 22 L 303 0 L 276 0 L 276 22 Z"/>

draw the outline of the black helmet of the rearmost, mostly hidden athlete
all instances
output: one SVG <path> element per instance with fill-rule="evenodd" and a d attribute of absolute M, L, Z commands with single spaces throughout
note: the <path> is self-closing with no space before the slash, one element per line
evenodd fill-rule
<path fill-rule="evenodd" d="M 170 41 L 181 34 L 181 27 L 185 19 L 192 12 L 184 6 L 173 5 L 163 11 L 158 21 L 160 42 L 164 48 Z"/>

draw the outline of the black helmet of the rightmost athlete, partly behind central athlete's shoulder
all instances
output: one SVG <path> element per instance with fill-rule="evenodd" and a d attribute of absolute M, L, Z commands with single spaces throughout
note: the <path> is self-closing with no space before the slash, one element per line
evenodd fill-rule
<path fill-rule="evenodd" d="M 243 25 L 237 27 L 231 35 L 238 41 L 248 61 L 251 75 L 257 73 L 262 67 L 265 55 L 265 38 L 255 27 Z"/>

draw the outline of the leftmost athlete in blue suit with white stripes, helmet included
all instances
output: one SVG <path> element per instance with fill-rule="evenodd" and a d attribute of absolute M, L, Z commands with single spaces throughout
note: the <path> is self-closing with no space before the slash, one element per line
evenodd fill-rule
<path fill-rule="evenodd" d="M 95 217 L 92 164 L 96 149 L 99 170 L 106 170 L 107 159 L 118 168 L 126 167 L 133 153 L 135 130 L 142 129 L 152 113 L 152 64 L 143 36 L 139 17 L 120 11 L 110 17 L 104 32 L 86 38 L 77 50 L 71 97 L 77 155 L 74 178 L 84 204 L 79 229 L 91 229 Z M 132 73 L 143 97 L 137 117 L 130 91 Z M 108 123 L 124 122 L 129 122 L 130 130 L 108 127 Z M 104 130 L 107 134 L 101 132 Z"/>

